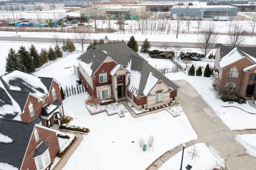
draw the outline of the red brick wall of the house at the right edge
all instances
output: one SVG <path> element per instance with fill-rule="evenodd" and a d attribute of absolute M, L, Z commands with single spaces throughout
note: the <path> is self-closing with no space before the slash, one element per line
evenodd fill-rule
<path fill-rule="evenodd" d="M 224 90 L 226 88 L 226 82 L 234 82 L 236 83 L 236 90 L 240 91 L 242 89 L 242 83 L 243 83 L 243 79 L 244 79 L 244 71 L 243 69 L 247 66 L 252 65 L 253 63 L 249 60 L 247 60 L 247 58 L 244 58 L 241 61 L 238 61 L 234 64 L 231 64 L 229 66 L 226 67 L 226 69 L 224 69 L 222 71 L 222 77 L 221 77 L 221 82 L 220 82 L 220 90 Z M 228 71 L 233 68 L 236 67 L 236 69 L 238 69 L 239 74 L 238 74 L 238 78 L 229 78 L 228 77 Z M 247 85 L 246 85 L 247 86 Z M 241 94 L 242 95 L 242 94 Z"/>

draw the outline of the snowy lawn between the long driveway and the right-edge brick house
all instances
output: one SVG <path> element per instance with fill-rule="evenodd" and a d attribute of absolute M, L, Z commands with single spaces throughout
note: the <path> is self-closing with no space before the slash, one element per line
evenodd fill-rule
<path fill-rule="evenodd" d="M 205 102 L 213 109 L 220 119 L 226 124 L 229 130 L 244 130 L 256 129 L 256 115 L 247 112 L 256 113 L 256 109 L 249 104 L 229 104 L 221 101 L 216 97 L 216 92 L 212 86 L 212 78 L 189 76 L 183 72 L 165 74 L 170 80 L 185 80 L 187 81 Z M 244 109 L 247 112 L 235 107 L 222 106 L 236 106 Z"/>

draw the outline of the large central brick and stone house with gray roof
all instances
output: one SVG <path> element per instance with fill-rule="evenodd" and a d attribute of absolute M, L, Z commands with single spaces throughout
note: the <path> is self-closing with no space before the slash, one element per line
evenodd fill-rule
<path fill-rule="evenodd" d="M 125 43 L 94 46 L 77 58 L 78 78 L 94 98 L 129 100 L 141 109 L 170 103 L 179 88 Z"/>

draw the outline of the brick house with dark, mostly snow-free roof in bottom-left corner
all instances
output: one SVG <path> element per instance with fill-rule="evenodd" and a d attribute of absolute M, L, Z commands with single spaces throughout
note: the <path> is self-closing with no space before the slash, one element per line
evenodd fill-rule
<path fill-rule="evenodd" d="M 55 130 L 0 118 L 0 169 L 46 169 L 59 150 Z"/>

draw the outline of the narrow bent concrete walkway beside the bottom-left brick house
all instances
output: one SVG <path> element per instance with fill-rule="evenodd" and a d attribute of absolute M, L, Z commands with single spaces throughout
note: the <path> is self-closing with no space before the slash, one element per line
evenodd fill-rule
<path fill-rule="evenodd" d="M 77 138 L 76 138 L 75 142 L 73 143 L 73 145 L 65 153 L 65 155 L 63 155 L 63 157 L 55 165 L 55 167 L 53 168 L 54 170 L 61 170 L 66 165 L 66 163 L 68 162 L 68 159 L 73 154 L 73 152 L 77 149 L 77 147 L 79 146 L 79 144 L 82 142 L 82 140 L 84 138 L 84 135 L 81 133 L 74 133 L 74 132 L 68 132 L 68 131 L 61 131 L 61 132 L 74 134 L 77 136 Z"/>

